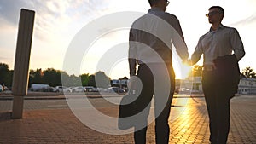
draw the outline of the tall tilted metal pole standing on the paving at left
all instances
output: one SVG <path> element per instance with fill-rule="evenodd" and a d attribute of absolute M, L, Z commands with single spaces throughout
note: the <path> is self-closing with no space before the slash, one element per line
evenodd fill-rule
<path fill-rule="evenodd" d="M 12 95 L 14 95 L 13 119 L 22 118 L 23 97 L 27 94 L 34 16 L 34 11 L 21 9 L 12 84 Z"/>

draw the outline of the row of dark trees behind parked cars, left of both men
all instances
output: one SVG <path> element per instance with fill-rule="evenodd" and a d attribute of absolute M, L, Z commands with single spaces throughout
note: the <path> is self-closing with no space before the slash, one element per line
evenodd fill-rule
<path fill-rule="evenodd" d="M 9 70 L 9 66 L 0 63 L 0 84 L 11 88 L 14 70 Z M 30 70 L 28 86 L 31 84 L 49 84 L 55 86 L 94 86 L 108 88 L 110 78 L 104 72 L 96 72 L 95 74 L 84 73 L 79 76 L 68 75 L 67 72 L 48 68 L 46 70 L 37 69 Z"/>

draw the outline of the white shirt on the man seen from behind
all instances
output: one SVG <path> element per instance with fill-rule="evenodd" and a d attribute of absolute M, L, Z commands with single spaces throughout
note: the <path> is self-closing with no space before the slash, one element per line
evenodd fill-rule
<path fill-rule="evenodd" d="M 159 58 L 172 63 L 172 43 L 183 60 L 188 57 L 177 17 L 160 9 L 149 9 L 131 26 L 129 55 L 146 63 L 160 62 Z"/>

